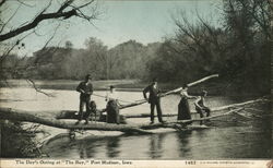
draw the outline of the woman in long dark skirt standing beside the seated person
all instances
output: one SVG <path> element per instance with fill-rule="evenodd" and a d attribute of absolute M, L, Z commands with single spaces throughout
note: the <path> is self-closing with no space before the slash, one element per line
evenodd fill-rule
<path fill-rule="evenodd" d="M 190 120 L 190 106 L 188 99 L 195 98 L 195 96 L 188 95 L 188 85 L 182 86 L 183 89 L 180 92 L 180 103 L 178 104 L 178 117 L 177 120 Z"/>

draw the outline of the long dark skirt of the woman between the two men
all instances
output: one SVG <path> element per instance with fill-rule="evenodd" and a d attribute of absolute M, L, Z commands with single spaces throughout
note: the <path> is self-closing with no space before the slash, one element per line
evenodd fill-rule
<path fill-rule="evenodd" d="M 106 122 L 107 123 L 119 123 L 119 107 L 117 101 L 109 100 L 106 107 L 107 117 Z"/>

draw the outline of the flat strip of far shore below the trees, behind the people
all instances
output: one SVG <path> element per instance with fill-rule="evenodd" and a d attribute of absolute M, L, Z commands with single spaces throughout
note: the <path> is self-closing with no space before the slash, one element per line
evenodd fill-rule
<path fill-rule="evenodd" d="M 41 89 L 67 89 L 74 91 L 81 81 L 76 80 L 34 80 L 37 88 Z M 110 85 L 114 85 L 120 92 L 142 92 L 149 82 L 141 80 L 102 80 L 93 81 L 94 91 L 107 91 Z M 180 83 L 158 83 L 163 92 L 181 87 Z M 257 93 L 239 93 L 236 91 L 225 89 L 226 84 L 219 82 L 205 82 L 197 86 L 190 87 L 191 95 L 200 95 L 205 89 L 210 96 L 264 96 Z M 32 83 L 26 80 L 7 80 L 0 82 L 1 87 L 33 87 Z"/>

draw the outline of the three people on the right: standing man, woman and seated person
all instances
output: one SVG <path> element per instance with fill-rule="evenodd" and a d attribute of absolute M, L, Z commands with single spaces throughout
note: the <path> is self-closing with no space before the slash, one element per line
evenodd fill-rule
<path fill-rule="evenodd" d="M 146 93 L 149 93 L 149 98 L 146 96 Z M 190 120 L 191 119 L 190 106 L 188 101 L 188 99 L 191 99 L 191 98 L 197 99 L 194 101 L 194 106 L 200 117 L 203 118 L 204 113 L 206 113 L 206 117 L 210 117 L 211 109 L 205 105 L 206 94 L 207 93 L 203 91 L 201 96 L 190 96 L 188 94 L 188 85 L 185 84 L 180 92 L 181 99 L 180 99 L 180 103 L 178 104 L 177 120 Z M 161 108 L 161 89 L 157 86 L 156 79 L 154 79 L 153 82 L 143 89 L 143 96 L 151 105 L 151 124 L 154 123 L 154 108 L 155 107 L 157 110 L 158 121 L 164 123 L 165 121 L 162 119 L 162 108 Z M 200 124 L 203 124 L 203 122 L 200 121 Z"/>

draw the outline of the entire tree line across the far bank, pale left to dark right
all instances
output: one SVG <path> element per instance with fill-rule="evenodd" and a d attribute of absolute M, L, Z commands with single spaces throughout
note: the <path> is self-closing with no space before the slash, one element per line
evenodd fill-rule
<path fill-rule="evenodd" d="M 81 80 L 91 73 L 95 80 L 157 77 L 189 83 L 218 73 L 227 87 L 268 92 L 271 10 L 269 0 L 224 0 L 219 26 L 198 13 L 198 21 L 191 23 L 181 12 L 174 17 L 174 36 L 163 43 L 145 46 L 129 40 L 108 49 L 102 40 L 90 37 L 84 49 L 74 49 L 71 41 L 64 47 L 46 47 L 21 59 L 26 69 L 15 77 Z M 15 56 L 9 59 L 11 68 L 19 62 Z"/>

